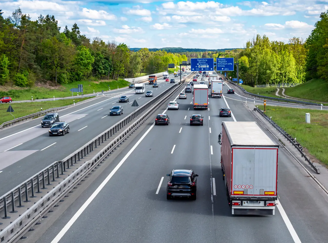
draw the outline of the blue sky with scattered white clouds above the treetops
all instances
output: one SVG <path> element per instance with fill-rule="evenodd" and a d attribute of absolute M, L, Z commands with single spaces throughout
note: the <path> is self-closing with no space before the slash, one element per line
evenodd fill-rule
<path fill-rule="evenodd" d="M 158 1 L 0 0 L 3 16 L 20 7 L 31 19 L 54 15 L 59 26 L 130 47 L 240 48 L 256 33 L 288 42 L 311 33 L 328 0 Z"/>

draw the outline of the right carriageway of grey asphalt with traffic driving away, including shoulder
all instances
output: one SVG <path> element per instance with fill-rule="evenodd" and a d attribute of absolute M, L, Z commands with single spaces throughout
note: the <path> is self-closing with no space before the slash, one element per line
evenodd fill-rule
<path fill-rule="evenodd" d="M 169 126 L 154 126 L 154 114 L 37 242 L 328 242 L 327 195 L 284 149 L 279 152 L 276 215 L 231 215 L 217 136 L 222 121 L 256 118 L 236 94 L 224 96 L 210 98 L 205 111 L 193 110 L 192 94 L 178 101 L 178 111 L 163 105 L 156 114 L 170 115 Z M 218 116 L 225 106 L 232 117 Z M 203 115 L 204 126 L 190 126 L 192 114 Z M 199 174 L 196 201 L 166 199 L 166 174 L 172 169 Z"/>

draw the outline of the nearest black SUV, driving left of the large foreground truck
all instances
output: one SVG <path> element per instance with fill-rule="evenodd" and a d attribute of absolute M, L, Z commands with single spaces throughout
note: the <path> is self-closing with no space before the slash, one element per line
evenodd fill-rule
<path fill-rule="evenodd" d="M 166 187 L 166 199 L 191 197 L 196 200 L 197 174 L 192 170 L 173 170 Z"/>

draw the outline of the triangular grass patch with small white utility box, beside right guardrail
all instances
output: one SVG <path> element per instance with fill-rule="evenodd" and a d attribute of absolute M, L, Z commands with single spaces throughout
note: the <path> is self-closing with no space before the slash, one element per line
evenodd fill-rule
<path fill-rule="evenodd" d="M 264 106 L 258 106 L 264 110 Z M 311 124 L 305 123 L 311 114 Z M 328 111 L 266 106 L 266 114 L 322 163 L 328 165 Z"/>

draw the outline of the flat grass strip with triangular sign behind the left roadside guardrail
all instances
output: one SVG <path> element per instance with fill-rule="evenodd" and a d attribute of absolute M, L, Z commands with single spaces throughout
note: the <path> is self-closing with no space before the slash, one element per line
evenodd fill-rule
<path fill-rule="evenodd" d="M 93 97 L 86 97 L 83 99 L 74 99 L 75 104 L 78 102 L 81 102 L 83 100 L 87 100 Z M 68 106 L 72 105 L 73 100 L 67 99 L 67 100 L 55 100 L 55 101 L 40 101 L 40 102 L 26 102 L 26 103 L 11 103 L 11 107 L 14 110 L 12 114 L 15 116 L 15 118 L 30 115 L 32 113 L 47 110 L 50 108 L 55 107 L 61 107 L 61 106 Z M 10 112 L 7 112 L 7 109 L 9 107 L 9 103 L 2 103 L 0 105 L 0 125 L 4 122 L 13 120 L 14 117 L 10 115 Z"/>

